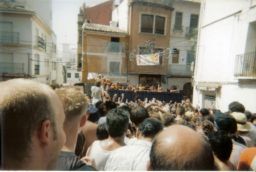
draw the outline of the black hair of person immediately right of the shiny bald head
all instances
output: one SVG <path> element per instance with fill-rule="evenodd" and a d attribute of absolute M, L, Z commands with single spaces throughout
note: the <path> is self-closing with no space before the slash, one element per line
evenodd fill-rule
<path fill-rule="evenodd" d="M 228 160 L 233 149 L 231 138 L 221 130 L 211 131 L 208 138 L 216 157 L 221 161 Z"/>

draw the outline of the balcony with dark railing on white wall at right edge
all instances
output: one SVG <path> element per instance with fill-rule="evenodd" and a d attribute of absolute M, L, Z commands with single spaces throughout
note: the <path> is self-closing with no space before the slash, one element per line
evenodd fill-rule
<path fill-rule="evenodd" d="M 239 54 L 235 57 L 235 79 L 256 79 L 256 53 Z"/>

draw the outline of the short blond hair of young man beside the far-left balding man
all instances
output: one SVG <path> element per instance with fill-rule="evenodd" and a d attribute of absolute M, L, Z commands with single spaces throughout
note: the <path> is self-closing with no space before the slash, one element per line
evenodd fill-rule
<path fill-rule="evenodd" d="M 56 89 L 55 93 L 61 99 L 67 120 L 71 121 L 74 117 L 81 115 L 85 108 L 87 109 L 89 104 L 87 95 L 71 88 Z"/>

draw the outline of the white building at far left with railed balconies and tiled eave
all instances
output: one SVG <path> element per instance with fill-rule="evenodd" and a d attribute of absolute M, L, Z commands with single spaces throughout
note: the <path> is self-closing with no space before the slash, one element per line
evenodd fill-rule
<path fill-rule="evenodd" d="M 55 83 L 57 73 L 56 35 L 51 30 L 51 15 L 37 11 L 51 14 L 51 1 L 39 2 L 43 6 L 30 3 L 26 0 L 0 3 L 1 81 L 30 78 L 50 85 Z"/>

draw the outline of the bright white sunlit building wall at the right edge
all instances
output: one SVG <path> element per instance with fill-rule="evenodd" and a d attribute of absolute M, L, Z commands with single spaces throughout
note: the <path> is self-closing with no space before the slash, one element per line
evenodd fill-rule
<path fill-rule="evenodd" d="M 193 105 L 227 111 L 238 101 L 256 112 L 256 2 L 203 0 Z M 209 103 L 210 102 L 210 103 Z"/>

